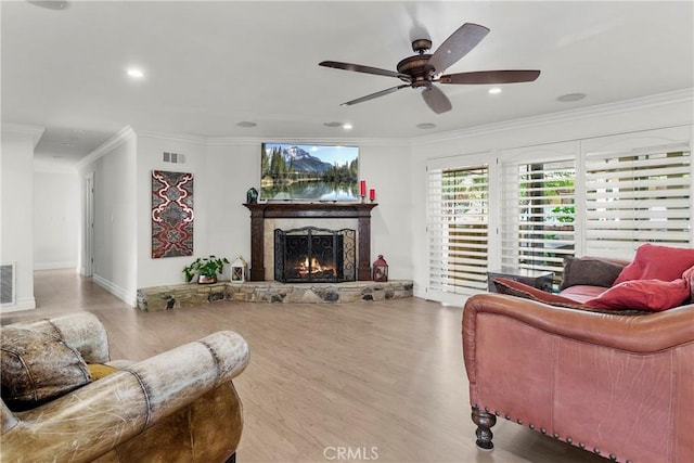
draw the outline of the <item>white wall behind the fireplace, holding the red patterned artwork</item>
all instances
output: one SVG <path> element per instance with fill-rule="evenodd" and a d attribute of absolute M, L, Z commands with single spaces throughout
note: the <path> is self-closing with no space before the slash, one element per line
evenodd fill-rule
<path fill-rule="evenodd" d="M 260 145 L 264 141 L 267 140 L 205 140 L 138 132 L 138 287 L 182 283 L 182 269 L 193 257 L 215 254 L 233 260 L 241 255 L 250 260 L 250 213 L 243 203 L 250 187 L 259 189 Z M 370 188 L 376 189 L 380 203 L 372 211 L 371 261 L 377 254 L 383 254 L 390 266 L 391 279 L 410 279 L 409 147 L 393 142 L 350 141 L 350 144 L 360 146 L 362 177 Z M 165 151 L 184 154 L 185 164 L 163 163 L 162 153 Z M 194 175 L 193 257 L 151 257 L 152 169 Z M 267 274 L 266 278 L 271 279 L 272 275 Z"/>

